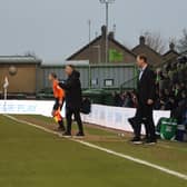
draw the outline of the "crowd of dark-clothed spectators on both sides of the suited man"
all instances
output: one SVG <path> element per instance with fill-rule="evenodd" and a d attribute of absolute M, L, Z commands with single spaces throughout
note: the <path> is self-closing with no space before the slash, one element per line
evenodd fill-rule
<path fill-rule="evenodd" d="M 171 117 L 183 122 L 187 120 L 187 58 L 165 65 L 156 70 L 156 110 L 170 110 Z M 115 92 L 115 106 L 134 108 L 137 106 L 136 91 Z M 187 121 L 186 121 L 187 124 Z"/>

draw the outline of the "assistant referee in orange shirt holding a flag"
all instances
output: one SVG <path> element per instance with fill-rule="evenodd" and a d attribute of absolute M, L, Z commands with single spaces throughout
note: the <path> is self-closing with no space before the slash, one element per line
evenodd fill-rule
<path fill-rule="evenodd" d="M 65 131 L 65 125 L 63 125 L 63 118 L 61 116 L 61 109 L 63 106 L 63 100 L 65 100 L 65 90 L 62 88 L 59 87 L 59 81 L 57 78 L 57 75 L 51 72 L 49 75 L 49 80 L 52 83 L 52 90 L 53 90 L 53 97 L 56 99 L 55 105 L 53 105 L 53 109 L 52 109 L 52 117 L 56 120 L 56 122 L 58 122 L 59 131 Z"/>

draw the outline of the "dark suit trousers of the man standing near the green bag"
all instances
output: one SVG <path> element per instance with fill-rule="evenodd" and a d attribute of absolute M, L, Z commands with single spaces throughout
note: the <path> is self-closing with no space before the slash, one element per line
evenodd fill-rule
<path fill-rule="evenodd" d="M 139 105 L 137 108 L 137 112 L 135 116 L 135 136 L 140 137 L 141 134 L 141 124 L 145 125 L 146 128 L 146 138 L 155 140 L 156 131 L 154 124 L 154 114 L 152 106 L 148 105 Z"/>

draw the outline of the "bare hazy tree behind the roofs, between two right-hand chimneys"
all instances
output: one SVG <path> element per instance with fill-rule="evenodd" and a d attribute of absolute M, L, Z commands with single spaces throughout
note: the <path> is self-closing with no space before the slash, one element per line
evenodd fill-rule
<path fill-rule="evenodd" d="M 144 37 L 146 39 L 146 45 L 149 46 L 151 49 L 157 51 L 158 53 L 164 53 L 166 50 L 166 42 L 161 38 L 159 32 L 144 32 Z"/>

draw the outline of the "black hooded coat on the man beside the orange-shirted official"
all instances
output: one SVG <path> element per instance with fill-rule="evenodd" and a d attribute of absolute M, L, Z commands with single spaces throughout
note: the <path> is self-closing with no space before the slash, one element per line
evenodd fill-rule
<path fill-rule="evenodd" d="M 66 106 L 71 109 L 80 109 L 82 101 L 80 73 L 76 70 L 72 71 L 65 83 L 60 82 L 59 86 L 66 90 Z"/>

